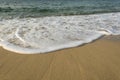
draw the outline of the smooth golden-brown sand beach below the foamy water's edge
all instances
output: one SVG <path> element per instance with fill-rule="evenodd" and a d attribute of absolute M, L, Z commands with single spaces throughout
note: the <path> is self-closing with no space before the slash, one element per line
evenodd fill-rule
<path fill-rule="evenodd" d="M 120 37 L 48 54 L 0 48 L 0 80 L 120 80 Z"/>

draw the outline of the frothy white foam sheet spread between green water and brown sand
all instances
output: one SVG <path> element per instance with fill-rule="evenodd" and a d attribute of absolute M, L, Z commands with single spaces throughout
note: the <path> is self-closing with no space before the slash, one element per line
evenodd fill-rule
<path fill-rule="evenodd" d="M 120 34 L 120 13 L 0 21 L 0 46 L 23 54 L 45 53 Z"/>

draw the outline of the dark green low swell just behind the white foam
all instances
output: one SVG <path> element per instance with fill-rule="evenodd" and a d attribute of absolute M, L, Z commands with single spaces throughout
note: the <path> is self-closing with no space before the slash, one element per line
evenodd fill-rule
<path fill-rule="evenodd" d="M 79 6 L 79 7 L 0 7 L 0 17 L 3 18 L 35 18 L 43 16 L 87 15 L 96 13 L 120 12 L 120 8 L 110 6 Z"/>

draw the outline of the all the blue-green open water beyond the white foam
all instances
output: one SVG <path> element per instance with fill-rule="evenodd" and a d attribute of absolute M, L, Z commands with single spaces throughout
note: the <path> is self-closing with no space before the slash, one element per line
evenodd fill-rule
<path fill-rule="evenodd" d="M 119 12 L 120 0 L 0 0 L 0 17 L 41 17 Z"/>

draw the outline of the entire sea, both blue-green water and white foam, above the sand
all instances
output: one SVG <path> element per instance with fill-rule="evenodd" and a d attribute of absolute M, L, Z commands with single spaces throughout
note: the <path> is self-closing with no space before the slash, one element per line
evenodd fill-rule
<path fill-rule="evenodd" d="M 7 50 L 46 53 L 104 35 L 120 35 L 120 0 L 0 0 L 0 46 Z"/>

